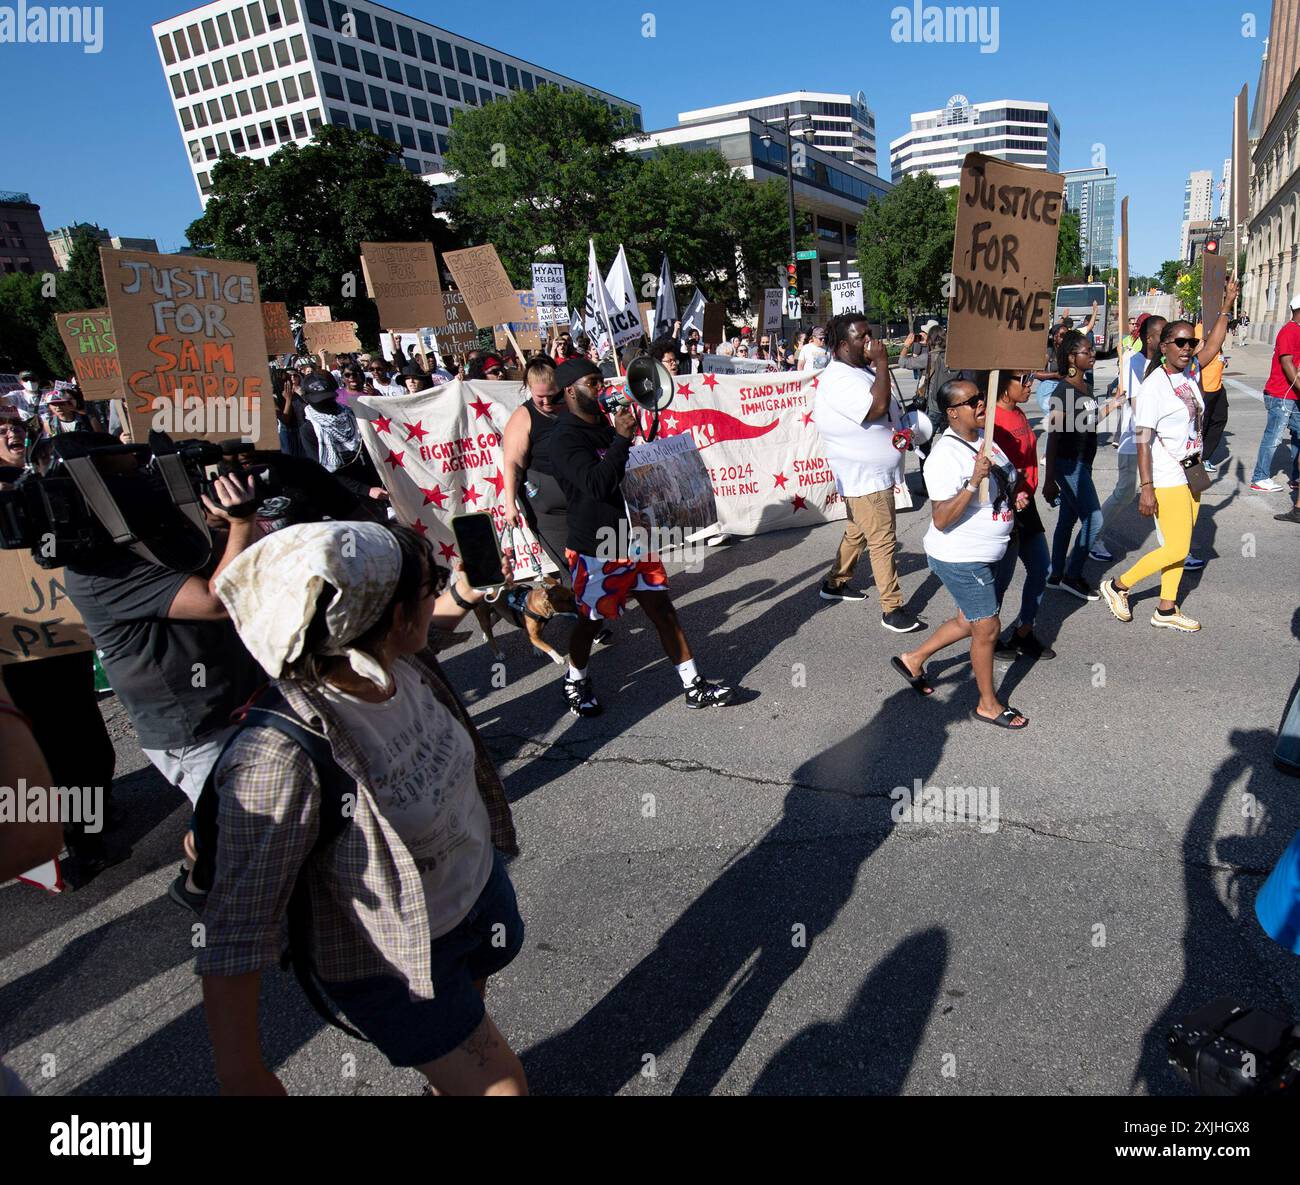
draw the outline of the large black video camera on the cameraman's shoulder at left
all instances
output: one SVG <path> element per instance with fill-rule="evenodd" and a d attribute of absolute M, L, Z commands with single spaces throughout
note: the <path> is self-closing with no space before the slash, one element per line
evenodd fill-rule
<path fill-rule="evenodd" d="M 35 468 L 0 490 L 0 548 L 27 548 L 42 568 L 58 568 L 125 546 L 164 568 L 196 572 L 212 552 L 200 496 L 217 500 L 213 483 L 230 474 L 252 476 L 246 513 L 268 529 L 298 521 L 278 455 L 259 456 L 240 440 L 174 442 L 157 431 L 147 444 L 79 437 L 39 442 Z"/>

